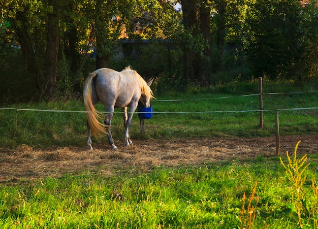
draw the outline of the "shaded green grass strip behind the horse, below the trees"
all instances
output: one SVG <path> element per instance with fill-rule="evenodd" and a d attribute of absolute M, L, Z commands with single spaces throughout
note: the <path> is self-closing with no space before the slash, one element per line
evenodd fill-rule
<path fill-rule="evenodd" d="M 249 88 L 247 87 L 242 95 L 252 93 Z M 298 88 L 294 89 L 298 91 Z M 220 97 L 226 98 L 219 99 Z M 171 99 L 184 101 L 162 101 Z M 310 108 L 317 105 L 317 92 L 280 95 L 265 93 L 263 96 L 264 127 L 260 128 L 260 117 L 257 112 L 259 110 L 258 95 L 241 97 L 237 94 L 200 91 L 170 93 L 166 96 L 157 96 L 157 100 L 152 101 L 154 114 L 152 119 L 145 120 L 145 138 L 274 136 L 275 109 L 279 110 L 281 135 L 316 134 L 318 133 L 317 109 L 283 109 Z M 83 111 L 83 104 L 81 101 L 69 101 L 40 105 L 18 104 L 10 108 Z M 104 111 L 102 104 L 98 104 L 97 109 Z M 0 136 L 0 147 L 12 147 L 19 144 L 51 147 L 82 145 L 86 142 L 84 113 L 0 110 L 0 121 L 2 123 L 0 132 L 5 133 Z M 112 134 L 115 140 L 123 139 L 124 127 L 118 109 L 112 120 Z M 134 115 L 130 135 L 132 139 L 144 138 L 140 134 L 137 114 Z"/>

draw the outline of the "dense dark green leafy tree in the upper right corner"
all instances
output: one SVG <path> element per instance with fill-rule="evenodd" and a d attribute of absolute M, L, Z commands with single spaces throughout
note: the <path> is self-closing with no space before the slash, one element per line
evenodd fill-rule
<path fill-rule="evenodd" d="M 303 7 L 298 0 L 258 0 L 251 5 L 245 51 L 256 75 L 272 79 L 302 75 L 308 51 L 317 44 L 312 23 L 317 9 L 310 7 Z"/>

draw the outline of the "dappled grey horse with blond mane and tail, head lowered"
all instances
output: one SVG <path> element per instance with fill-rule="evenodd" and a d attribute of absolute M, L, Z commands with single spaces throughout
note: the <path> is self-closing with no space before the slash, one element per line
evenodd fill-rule
<path fill-rule="evenodd" d="M 114 114 L 114 108 L 121 108 L 123 123 L 125 126 L 124 147 L 132 144 L 129 136 L 129 127 L 132 123 L 133 114 L 141 103 L 144 107 L 150 108 L 150 99 L 153 99 L 153 92 L 150 85 L 130 67 L 121 72 L 112 69 L 98 69 L 88 75 L 83 88 L 84 109 L 86 111 L 88 139 L 88 150 L 92 150 L 91 132 L 94 137 L 107 134 L 111 149 L 117 149 L 112 138 L 110 126 Z M 101 101 L 106 110 L 104 123 L 101 112 L 95 109 L 95 105 Z M 127 115 L 127 107 L 129 112 Z"/>

